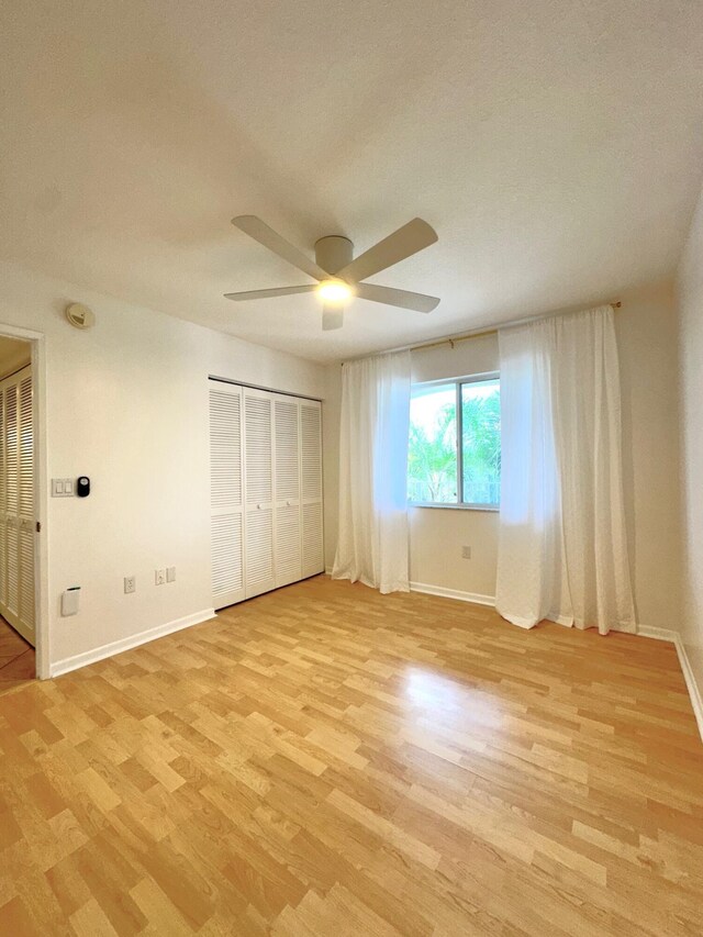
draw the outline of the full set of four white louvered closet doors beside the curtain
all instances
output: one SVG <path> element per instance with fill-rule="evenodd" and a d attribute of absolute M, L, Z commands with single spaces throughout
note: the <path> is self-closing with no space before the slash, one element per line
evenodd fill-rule
<path fill-rule="evenodd" d="M 213 606 L 324 569 L 317 401 L 210 382 Z"/>

